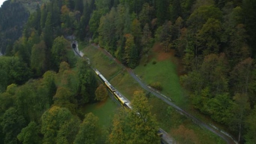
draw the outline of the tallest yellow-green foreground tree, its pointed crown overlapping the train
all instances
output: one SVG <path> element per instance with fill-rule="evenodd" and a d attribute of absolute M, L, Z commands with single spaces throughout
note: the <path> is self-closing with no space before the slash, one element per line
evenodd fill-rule
<path fill-rule="evenodd" d="M 128 113 L 128 125 L 131 129 L 128 143 L 159 143 L 156 118 L 151 115 L 151 107 L 143 91 L 134 92 L 131 105 L 132 110 Z"/>

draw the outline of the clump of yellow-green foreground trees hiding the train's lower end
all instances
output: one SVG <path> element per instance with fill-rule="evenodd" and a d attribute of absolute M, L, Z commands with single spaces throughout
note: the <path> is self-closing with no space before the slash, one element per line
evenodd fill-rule
<path fill-rule="evenodd" d="M 159 143 L 155 117 L 143 91 L 134 92 L 132 110 L 122 110 L 115 115 L 109 140 L 111 144 Z M 139 114 L 138 114 L 139 113 Z"/>

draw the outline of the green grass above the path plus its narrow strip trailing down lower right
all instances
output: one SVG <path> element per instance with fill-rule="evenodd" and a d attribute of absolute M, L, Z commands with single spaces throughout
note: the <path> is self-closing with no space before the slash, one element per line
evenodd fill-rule
<path fill-rule="evenodd" d="M 173 62 L 177 61 L 176 58 L 171 56 L 163 61 L 157 61 L 158 52 L 153 52 L 150 57 L 150 61 L 146 66 L 144 66 L 145 57 L 143 57 L 140 65 L 134 69 L 134 72 L 140 76 L 144 82 L 147 84 L 160 82 L 163 87 L 161 93 L 170 97 L 176 105 L 203 122 L 211 123 L 218 128 L 228 131 L 225 126 L 214 122 L 209 116 L 205 116 L 205 114 L 193 108 L 188 96 L 186 96 L 185 89 L 180 85 L 179 76 L 177 74 L 177 62 Z M 152 64 L 153 61 L 156 61 L 156 64 Z"/>

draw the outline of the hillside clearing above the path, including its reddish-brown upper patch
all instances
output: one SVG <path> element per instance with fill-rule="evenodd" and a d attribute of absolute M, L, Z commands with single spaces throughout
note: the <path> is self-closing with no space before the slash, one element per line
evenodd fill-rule
<path fill-rule="evenodd" d="M 141 59 L 134 72 L 148 85 L 160 82 L 161 93 L 169 96 L 180 107 L 186 107 L 188 101 L 184 90 L 180 85 L 177 72 L 177 58 L 174 58 L 174 50 L 165 52 L 159 43 L 156 43 L 149 54 L 149 60 L 145 62 L 145 56 Z"/>

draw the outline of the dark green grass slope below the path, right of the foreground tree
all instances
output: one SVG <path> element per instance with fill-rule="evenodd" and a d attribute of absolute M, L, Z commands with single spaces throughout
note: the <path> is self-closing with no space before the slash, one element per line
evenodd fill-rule
<path fill-rule="evenodd" d="M 152 105 L 152 114 L 156 115 L 159 126 L 175 137 L 174 129 L 178 129 L 180 125 L 186 129 L 192 130 L 198 141 L 192 141 L 196 144 L 225 144 L 225 141 L 207 129 L 200 128 L 192 122 L 191 119 L 179 114 L 174 108 L 170 107 L 158 98 L 151 97 L 149 99 Z"/>

